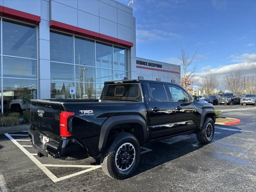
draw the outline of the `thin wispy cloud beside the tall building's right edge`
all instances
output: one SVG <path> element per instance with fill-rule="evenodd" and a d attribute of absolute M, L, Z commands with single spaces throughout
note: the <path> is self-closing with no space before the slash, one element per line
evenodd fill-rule
<path fill-rule="evenodd" d="M 166 32 L 158 29 L 152 30 L 137 30 L 136 31 L 136 39 L 137 42 L 151 42 L 156 40 L 171 40 L 174 38 L 181 38 L 180 34 Z"/>

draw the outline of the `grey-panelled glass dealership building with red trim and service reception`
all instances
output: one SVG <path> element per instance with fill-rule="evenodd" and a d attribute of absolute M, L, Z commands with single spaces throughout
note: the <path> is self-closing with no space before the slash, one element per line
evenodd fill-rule
<path fill-rule="evenodd" d="M 136 57 L 132 8 L 116 0 L 0 0 L 1 110 L 19 98 L 99 98 L 105 81 L 177 83 L 180 66 Z"/>

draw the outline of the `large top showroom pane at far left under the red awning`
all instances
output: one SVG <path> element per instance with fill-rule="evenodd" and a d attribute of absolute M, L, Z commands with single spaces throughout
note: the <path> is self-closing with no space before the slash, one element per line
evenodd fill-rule
<path fill-rule="evenodd" d="M 3 21 L 3 54 L 36 58 L 36 27 Z"/>

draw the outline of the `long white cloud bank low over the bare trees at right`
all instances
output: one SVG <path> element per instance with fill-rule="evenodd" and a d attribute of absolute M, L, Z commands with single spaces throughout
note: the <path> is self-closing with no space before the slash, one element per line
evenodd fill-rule
<path fill-rule="evenodd" d="M 245 53 L 238 56 L 231 55 L 228 59 L 237 63 L 219 66 L 216 68 L 210 68 L 210 66 L 203 67 L 202 72 L 196 74 L 194 77 L 194 85 L 198 86 L 198 82 L 200 82 L 203 76 L 216 76 L 219 81 L 219 90 L 225 90 L 225 87 L 222 84 L 223 77 L 230 72 L 236 72 L 238 70 L 241 70 L 243 76 L 256 77 L 256 54 Z"/>

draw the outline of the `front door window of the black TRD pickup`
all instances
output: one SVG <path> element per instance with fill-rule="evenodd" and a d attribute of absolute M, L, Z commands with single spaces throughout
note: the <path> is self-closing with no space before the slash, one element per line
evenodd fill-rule
<path fill-rule="evenodd" d="M 189 95 L 180 87 L 168 85 L 171 102 L 190 102 Z"/>

